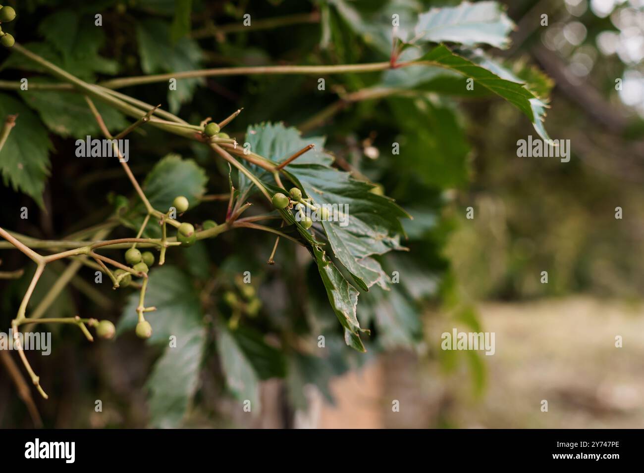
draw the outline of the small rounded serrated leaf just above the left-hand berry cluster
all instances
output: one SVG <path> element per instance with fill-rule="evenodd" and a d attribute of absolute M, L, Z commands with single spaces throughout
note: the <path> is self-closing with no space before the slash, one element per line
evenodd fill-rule
<path fill-rule="evenodd" d="M 204 169 L 194 160 L 168 154 L 147 174 L 143 189 L 155 209 L 169 209 L 176 196 L 185 196 L 192 209 L 204 196 L 207 180 Z"/>

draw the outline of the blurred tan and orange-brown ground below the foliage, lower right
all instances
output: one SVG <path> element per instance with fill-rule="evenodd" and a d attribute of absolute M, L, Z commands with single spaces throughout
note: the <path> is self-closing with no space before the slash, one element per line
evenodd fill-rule
<path fill-rule="evenodd" d="M 484 356 L 487 389 L 468 373 L 400 351 L 332 384 L 337 406 L 317 400 L 323 428 L 641 428 L 644 319 L 641 304 L 576 296 L 480 304 L 496 353 Z M 614 337 L 623 337 L 623 348 Z M 391 402 L 401 402 L 393 413 Z M 548 412 L 542 413 L 541 401 Z M 306 426 L 306 425 L 303 425 Z"/>

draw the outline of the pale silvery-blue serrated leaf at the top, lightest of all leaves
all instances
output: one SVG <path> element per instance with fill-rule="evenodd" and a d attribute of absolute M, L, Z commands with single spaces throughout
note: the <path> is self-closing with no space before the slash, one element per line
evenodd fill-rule
<path fill-rule="evenodd" d="M 515 24 L 500 3 L 465 1 L 458 6 L 431 8 L 419 15 L 415 27 L 417 41 L 457 42 L 466 46 L 489 44 L 507 48 L 507 35 Z"/>

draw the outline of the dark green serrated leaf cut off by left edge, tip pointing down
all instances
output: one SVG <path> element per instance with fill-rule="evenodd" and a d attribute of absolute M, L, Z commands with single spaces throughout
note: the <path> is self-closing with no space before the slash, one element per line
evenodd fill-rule
<path fill-rule="evenodd" d="M 4 122 L 7 115 L 18 117 L 0 150 L 3 183 L 31 196 L 44 207 L 43 190 L 49 175 L 52 143 L 43 124 L 30 109 L 10 95 L 0 94 L 0 120 Z"/>

